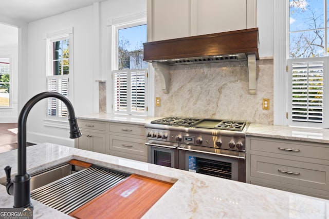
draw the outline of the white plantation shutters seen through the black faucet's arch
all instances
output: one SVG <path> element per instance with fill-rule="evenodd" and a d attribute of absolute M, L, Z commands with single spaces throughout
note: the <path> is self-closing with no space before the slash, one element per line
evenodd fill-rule
<path fill-rule="evenodd" d="M 58 92 L 68 97 L 68 75 L 47 76 L 48 91 Z M 57 98 L 48 98 L 48 115 L 68 117 L 66 105 Z"/>

